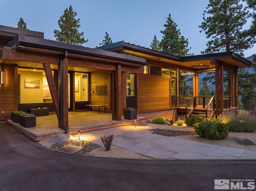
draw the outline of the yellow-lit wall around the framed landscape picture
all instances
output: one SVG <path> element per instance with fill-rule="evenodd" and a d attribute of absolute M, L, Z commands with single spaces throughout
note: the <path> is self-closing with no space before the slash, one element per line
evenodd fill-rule
<path fill-rule="evenodd" d="M 36 71 L 18 71 L 20 74 L 20 103 L 43 102 L 43 73 Z M 26 80 L 39 80 L 39 88 L 25 88 Z"/>

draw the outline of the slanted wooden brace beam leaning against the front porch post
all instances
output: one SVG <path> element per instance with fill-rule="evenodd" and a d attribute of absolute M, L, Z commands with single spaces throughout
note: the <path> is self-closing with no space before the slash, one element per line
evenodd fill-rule
<path fill-rule="evenodd" d="M 55 112 L 56 112 L 56 115 L 57 115 L 57 118 L 58 118 L 58 121 L 60 124 L 60 98 L 58 96 L 58 91 L 56 88 L 54 78 L 52 76 L 52 70 L 51 70 L 50 64 L 43 63 L 43 67 L 44 67 L 44 72 L 46 75 L 47 83 L 48 83 L 48 86 L 50 89 L 50 93 L 52 96 L 54 109 L 55 109 Z"/>

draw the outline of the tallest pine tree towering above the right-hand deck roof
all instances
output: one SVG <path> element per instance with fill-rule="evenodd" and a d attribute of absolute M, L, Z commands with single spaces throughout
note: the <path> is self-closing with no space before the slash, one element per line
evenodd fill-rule
<path fill-rule="evenodd" d="M 248 49 L 247 37 L 242 33 L 242 28 L 248 19 L 248 10 L 243 8 L 240 0 L 209 0 L 203 14 L 202 25 L 199 26 L 206 37 L 207 48 L 202 53 L 218 53 L 234 51 L 238 55 L 244 55 L 244 49 Z M 205 15 L 209 15 L 205 18 Z"/>

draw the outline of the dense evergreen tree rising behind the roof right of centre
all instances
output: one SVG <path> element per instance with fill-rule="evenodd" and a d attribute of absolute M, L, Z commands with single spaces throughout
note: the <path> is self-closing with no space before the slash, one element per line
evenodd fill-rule
<path fill-rule="evenodd" d="M 169 14 L 164 27 L 165 29 L 161 30 L 163 37 L 160 42 L 162 52 L 181 57 L 191 55 L 188 39 L 181 35 L 180 29 L 177 29 L 178 25 L 172 21 L 171 14 Z"/>

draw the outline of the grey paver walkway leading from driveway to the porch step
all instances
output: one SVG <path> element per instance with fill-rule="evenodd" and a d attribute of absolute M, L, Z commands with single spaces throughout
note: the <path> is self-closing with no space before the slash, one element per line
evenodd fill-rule
<path fill-rule="evenodd" d="M 80 133 L 80 139 L 104 146 L 100 137 L 113 134 L 112 145 L 154 159 L 256 159 L 256 152 L 161 136 L 152 134 L 150 129 L 150 126 L 118 126 Z M 78 134 L 73 136 L 78 138 Z"/>

